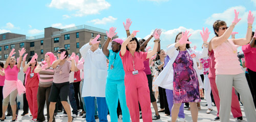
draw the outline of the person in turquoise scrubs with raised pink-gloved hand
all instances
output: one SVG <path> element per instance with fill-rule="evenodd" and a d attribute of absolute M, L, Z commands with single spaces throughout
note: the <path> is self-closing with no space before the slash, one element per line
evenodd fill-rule
<path fill-rule="evenodd" d="M 106 33 L 108 39 L 102 46 L 102 51 L 106 58 L 109 59 L 108 75 L 106 76 L 106 103 L 109 107 L 111 121 L 117 122 L 118 99 L 122 109 L 122 120 L 130 121 L 129 109 L 126 105 L 125 86 L 124 86 L 124 70 L 122 60 L 119 56 L 122 39 L 114 39 L 111 43 L 112 50 L 108 49 L 110 40 L 117 34 L 116 28 L 111 27 L 109 33 Z M 119 111 L 118 111 L 119 112 Z"/>

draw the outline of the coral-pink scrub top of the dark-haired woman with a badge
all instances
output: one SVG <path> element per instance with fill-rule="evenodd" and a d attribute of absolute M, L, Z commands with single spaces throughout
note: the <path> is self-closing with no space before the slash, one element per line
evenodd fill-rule
<path fill-rule="evenodd" d="M 134 52 L 134 57 L 132 56 L 131 52 L 126 50 L 125 54 L 121 56 L 119 53 L 122 63 L 123 63 L 123 70 L 124 72 L 131 72 L 134 71 L 133 69 L 133 61 L 135 70 L 144 70 L 144 61 L 146 60 L 147 52 Z"/>

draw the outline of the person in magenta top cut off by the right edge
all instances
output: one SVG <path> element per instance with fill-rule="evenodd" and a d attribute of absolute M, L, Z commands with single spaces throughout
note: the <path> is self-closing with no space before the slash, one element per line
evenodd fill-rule
<path fill-rule="evenodd" d="M 252 38 L 249 44 L 242 46 L 242 51 L 244 52 L 245 58 L 245 67 L 248 71 L 249 80 L 247 80 L 250 87 L 251 95 L 253 98 L 254 106 L 256 106 L 256 83 L 253 82 L 256 80 L 256 34 L 252 32 Z"/>

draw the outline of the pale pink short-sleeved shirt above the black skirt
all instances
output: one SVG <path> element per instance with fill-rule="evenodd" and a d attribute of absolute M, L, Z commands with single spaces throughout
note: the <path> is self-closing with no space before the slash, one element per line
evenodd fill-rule
<path fill-rule="evenodd" d="M 66 60 L 63 65 L 58 65 L 54 69 L 53 82 L 54 83 L 63 83 L 69 82 L 69 73 L 71 69 L 71 62 Z"/>

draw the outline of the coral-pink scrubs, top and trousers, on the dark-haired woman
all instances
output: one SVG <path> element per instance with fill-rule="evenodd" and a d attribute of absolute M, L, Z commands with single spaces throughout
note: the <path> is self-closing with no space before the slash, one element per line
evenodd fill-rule
<path fill-rule="evenodd" d="M 146 74 L 143 71 L 143 62 L 146 60 L 147 52 L 135 52 L 133 57 L 130 51 L 126 50 L 123 56 L 121 56 L 121 53 L 119 55 L 125 72 L 125 96 L 132 121 L 140 121 L 138 101 L 141 106 L 143 121 L 152 121 L 150 89 L 148 88 Z M 136 75 L 133 75 L 134 67 L 138 71 Z"/>

